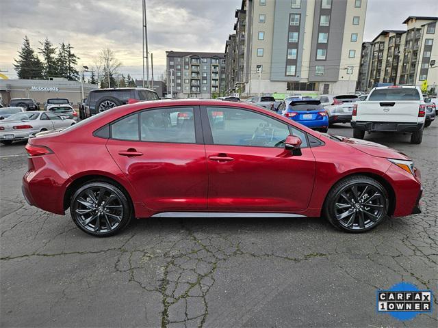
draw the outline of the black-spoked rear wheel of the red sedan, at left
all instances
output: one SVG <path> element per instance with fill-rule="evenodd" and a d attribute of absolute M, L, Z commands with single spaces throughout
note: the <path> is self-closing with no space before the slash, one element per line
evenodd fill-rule
<path fill-rule="evenodd" d="M 127 195 L 109 182 L 87 182 L 70 200 L 70 215 L 76 226 L 96 237 L 117 234 L 131 221 L 132 213 Z"/>

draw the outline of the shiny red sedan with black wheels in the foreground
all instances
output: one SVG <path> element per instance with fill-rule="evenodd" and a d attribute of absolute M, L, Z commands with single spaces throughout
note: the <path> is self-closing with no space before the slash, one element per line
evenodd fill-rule
<path fill-rule="evenodd" d="M 376 143 L 242 102 L 110 109 L 29 139 L 23 194 L 94 236 L 132 217 L 319 217 L 348 232 L 420 213 L 420 172 Z"/>

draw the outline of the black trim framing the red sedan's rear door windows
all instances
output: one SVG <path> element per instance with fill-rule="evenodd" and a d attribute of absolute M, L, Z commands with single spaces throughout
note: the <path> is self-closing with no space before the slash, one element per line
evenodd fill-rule
<path fill-rule="evenodd" d="M 193 109 L 193 115 L 194 115 L 194 133 L 195 133 L 195 142 L 174 142 L 174 141 L 148 141 L 148 140 L 142 140 L 142 129 L 141 129 L 141 113 L 144 111 L 155 111 L 159 109 L 182 109 L 182 108 L 192 108 Z M 116 124 L 118 121 L 123 120 L 131 115 L 138 115 L 138 140 L 127 140 L 127 139 L 117 139 L 112 136 L 112 126 L 113 124 Z M 204 138 L 203 138 L 203 128 L 201 126 L 201 120 L 200 120 L 200 113 L 199 113 L 199 106 L 172 106 L 172 107 L 153 107 L 150 109 L 139 109 L 138 111 L 134 113 L 129 113 L 127 115 L 122 116 L 121 118 L 118 118 L 117 120 L 114 120 L 108 124 L 105 124 L 104 126 L 101 126 L 100 128 L 97 128 L 93 135 L 97 133 L 101 128 L 104 128 L 106 125 L 110 126 L 110 137 L 108 139 L 112 140 L 120 140 L 120 141 L 129 141 L 129 142 L 143 142 L 143 143 L 181 143 L 185 145 L 203 145 L 204 144 Z"/>

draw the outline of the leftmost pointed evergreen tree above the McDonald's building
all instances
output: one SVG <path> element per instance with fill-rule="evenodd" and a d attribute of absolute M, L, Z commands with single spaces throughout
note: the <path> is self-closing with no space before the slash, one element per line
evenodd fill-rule
<path fill-rule="evenodd" d="M 14 69 L 18 79 L 42 79 L 42 62 L 31 48 L 29 38 L 25 36 L 18 59 L 15 59 Z"/>

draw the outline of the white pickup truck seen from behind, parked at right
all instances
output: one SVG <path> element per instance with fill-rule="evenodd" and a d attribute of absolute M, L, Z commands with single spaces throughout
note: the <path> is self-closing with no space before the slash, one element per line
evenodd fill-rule
<path fill-rule="evenodd" d="M 421 143 L 426 103 L 420 87 L 374 87 L 365 101 L 353 106 L 353 136 L 363 139 L 365 131 L 412 133 L 411 143 Z"/>

